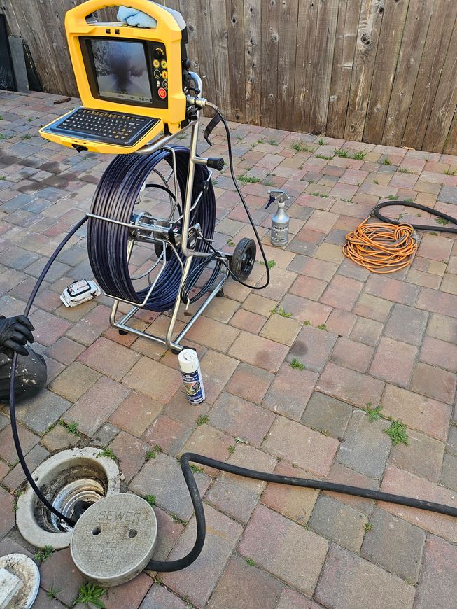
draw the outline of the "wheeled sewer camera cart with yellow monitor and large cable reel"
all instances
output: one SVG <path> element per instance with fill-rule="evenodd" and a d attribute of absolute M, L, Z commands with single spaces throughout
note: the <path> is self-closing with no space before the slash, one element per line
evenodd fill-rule
<path fill-rule="evenodd" d="M 83 106 L 40 133 L 77 151 L 122 155 L 102 176 L 87 214 L 90 263 L 104 294 L 113 298 L 111 325 L 178 353 L 197 318 L 215 296 L 223 295 L 228 276 L 248 278 L 256 246 L 246 238 L 233 253 L 212 246 L 216 200 L 211 176 L 213 169 L 223 169 L 224 161 L 197 155 L 199 109 L 212 104 L 202 98 L 201 78 L 189 71 L 182 16 L 136 0 L 131 6 L 147 13 L 155 27 L 100 22 L 96 11 L 110 4 L 117 2 L 90 0 L 66 14 Z M 190 147 L 171 146 L 183 132 L 190 132 Z M 168 200 L 168 210 L 160 206 L 164 216 L 136 211 L 141 200 L 154 203 L 154 195 Z M 133 274 L 129 262 L 136 244 L 152 246 L 153 260 Z M 197 288 L 205 274 L 209 279 Z M 175 336 L 181 304 L 188 309 L 201 298 L 199 309 Z M 131 308 L 119 318 L 121 302 Z M 140 309 L 171 311 L 164 337 L 129 325 Z"/>

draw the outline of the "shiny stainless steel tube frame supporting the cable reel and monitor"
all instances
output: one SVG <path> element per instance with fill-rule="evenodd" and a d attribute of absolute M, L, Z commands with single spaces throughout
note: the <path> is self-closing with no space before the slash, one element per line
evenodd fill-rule
<path fill-rule="evenodd" d="M 191 72 L 190 76 L 192 77 L 192 80 L 194 80 L 195 85 L 197 86 L 197 89 L 199 89 L 199 91 L 200 91 L 200 93 L 197 97 L 197 100 L 198 100 L 197 105 L 199 107 L 202 107 L 202 106 L 204 106 L 204 103 L 206 101 L 202 98 L 202 94 L 201 94 L 202 80 L 198 76 L 198 74 L 196 74 L 195 72 Z M 195 100 L 195 101 L 197 102 L 197 100 Z M 186 125 L 186 127 L 183 127 L 183 129 L 181 129 L 180 131 L 178 131 L 174 134 L 164 135 L 164 136 L 158 138 L 157 140 L 153 141 L 152 144 L 143 146 L 143 148 L 141 148 L 139 151 L 137 151 L 137 154 L 146 155 L 146 154 L 152 154 L 155 151 L 159 150 L 160 148 L 164 148 L 166 150 L 171 150 L 172 158 L 173 158 L 173 166 L 174 166 L 174 181 L 175 181 L 174 188 L 176 190 L 176 201 L 177 201 L 178 185 L 176 182 L 176 158 L 175 158 L 173 149 L 169 148 L 168 144 L 172 140 L 174 140 L 178 134 L 181 134 L 181 133 L 185 132 L 186 130 L 190 130 L 190 159 L 189 159 L 188 176 L 187 176 L 186 187 L 185 187 L 185 197 L 184 197 L 183 208 L 182 208 L 183 209 L 183 214 L 182 214 L 183 230 L 182 230 L 182 235 L 181 235 L 181 252 L 185 256 L 185 262 L 183 265 L 181 263 L 181 265 L 183 266 L 181 284 L 179 286 L 178 295 L 176 297 L 174 307 L 171 311 L 170 321 L 169 321 L 169 325 L 168 325 L 168 329 L 167 329 L 167 333 L 166 333 L 165 337 L 158 337 L 158 336 L 149 334 L 148 332 L 136 330 L 136 328 L 132 328 L 131 325 L 128 325 L 129 321 L 132 319 L 134 314 L 136 314 L 137 311 L 139 311 L 140 309 L 142 309 L 145 306 L 146 302 L 148 301 L 148 298 L 150 297 L 150 294 L 153 292 L 154 286 L 157 283 L 157 279 L 159 278 L 160 274 L 162 274 L 163 269 L 164 269 L 165 265 L 167 264 L 167 258 L 165 255 L 165 248 L 166 248 L 167 244 L 165 243 L 165 241 L 162 241 L 163 252 L 160 257 L 163 260 L 162 268 L 160 269 L 160 272 L 157 274 L 155 280 L 152 283 L 150 283 L 150 288 L 148 289 L 148 293 L 146 294 L 146 297 L 143 299 L 143 302 L 141 302 L 141 303 L 131 302 L 129 300 L 123 300 L 122 298 L 115 297 L 111 294 L 105 294 L 106 296 L 113 298 L 113 306 L 111 307 L 111 314 L 110 314 L 110 323 L 113 326 L 113 328 L 118 328 L 118 330 L 120 330 L 120 332 L 126 332 L 126 333 L 131 332 L 134 335 L 142 336 L 143 338 L 153 340 L 155 342 L 163 344 L 164 346 L 170 347 L 174 351 L 181 351 L 183 349 L 183 346 L 181 346 L 181 344 L 179 344 L 179 343 L 181 342 L 183 337 L 185 337 L 185 335 L 190 330 L 190 328 L 192 328 L 192 325 L 194 325 L 195 321 L 197 321 L 197 318 L 199 318 L 199 316 L 203 313 L 203 311 L 206 309 L 206 307 L 208 307 L 211 300 L 213 300 L 213 298 L 216 297 L 216 295 L 218 295 L 218 293 L 220 293 L 220 290 L 223 288 L 223 285 L 229 276 L 229 271 L 225 267 L 222 279 L 220 279 L 218 281 L 218 283 L 216 284 L 216 286 L 213 288 L 213 290 L 211 290 L 211 293 L 209 293 L 209 295 L 205 298 L 202 305 L 195 312 L 195 314 L 193 314 L 192 318 L 190 318 L 190 321 L 188 321 L 188 323 L 185 325 L 183 330 L 181 330 L 181 332 L 176 336 L 176 338 L 174 338 L 174 328 L 176 325 L 176 320 L 178 318 L 179 308 L 181 307 L 181 297 L 180 297 L 181 288 L 183 287 L 183 283 L 185 282 L 186 278 L 188 277 L 188 274 L 190 271 L 190 265 L 192 264 L 192 260 L 193 260 L 193 258 L 197 258 L 197 257 L 206 258 L 210 255 L 209 253 L 195 252 L 191 248 L 188 247 L 188 233 L 189 233 L 189 228 L 190 228 L 190 212 L 192 211 L 193 207 L 195 207 L 195 205 L 199 201 L 199 198 L 202 196 L 202 193 L 200 193 L 199 197 L 197 197 L 197 200 L 196 200 L 194 206 L 192 207 L 192 190 L 193 190 L 193 183 L 194 183 L 194 177 L 195 177 L 195 165 L 204 164 L 206 162 L 206 159 L 204 159 L 202 157 L 197 157 L 197 143 L 198 143 L 198 136 L 199 136 L 199 116 L 198 116 L 197 120 L 190 122 L 188 125 Z M 212 174 L 212 172 L 210 170 L 209 179 L 211 179 L 211 174 Z M 175 204 L 175 207 L 176 207 L 176 204 Z M 174 209 L 172 209 L 171 218 L 172 218 L 173 213 L 174 213 Z M 94 214 L 87 214 L 87 216 L 90 216 L 90 218 L 97 218 L 98 220 L 104 220 L 107 222 L 120 224 L 123 226 L 127 226 L 129 228 L 136 227 L 136 228 L 141 229 L 142 231 L 149 230 L 151 233 L 156 232 L 156 234 L 157 234 L 157 232 L 160 232 L 160 228 L 161 228 L 160 225 L 147 225 L 144 223 L 136 223 L 134 225 L 132 223 L 124 223 L 124 222 L 113 220 L 111 218 L 104 218 L 103 216 L 96 216 Z M 180 219 L 181 219 L 181 217 L 180 217 Z M 162 229 L 163 229 L 163 227 L 162 227 Z M 130 259 L 130 256 L 132 255 L 134 242 L 135 242 L 135 239 L 134 239 L 134 237 L 132 237 L 132 239 L 129 240 L 129 245 L 127 247 L 127 259 L 128 260 Z M 175 248 L 174 248 L 174 253 L 177 255 Z M 218 253 L 220 255 L 220 258 L 222 258 L 223 260 L 225 260 L 227 262 L 230 260 L 230 254 L 226 254 L 223 252 L 218 252 Z M 155 262 L 155 265 L 158 262 L 159 261 Z M 180 262 L 181 262 L 181 260 L 180 260 Z M 141 277 L 145 276 L 146 274 L 148 274 L 148 276 L 149 276 L 149 273 L 152 270 L 153 270 L 153 267 L 148 269 L 148 272 L 144 273 L 143 275 L 134 277 L 132 279 L 133 280 L 141 279 Z M 118 321 L 116 321 L 116 316 L 118 314 L 118 307 L 119 307 L 120 302 L 125 302 L 127 304 L 131 304 L 132 309 L 127 311 L 126 314 L 122 315 L 118 319 Z"/>

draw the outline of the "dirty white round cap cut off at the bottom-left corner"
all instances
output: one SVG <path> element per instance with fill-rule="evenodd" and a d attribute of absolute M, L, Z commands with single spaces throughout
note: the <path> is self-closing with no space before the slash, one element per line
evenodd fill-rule
<path fill-rule="evenodd" d="M 40 572 L 29 556 L 0 558 L 0 609 L 29 609 L 40 588 Z"/>

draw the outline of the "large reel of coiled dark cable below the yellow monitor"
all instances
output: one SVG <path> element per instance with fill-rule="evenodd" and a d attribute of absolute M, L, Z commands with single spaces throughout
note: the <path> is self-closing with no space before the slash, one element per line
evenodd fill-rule
<path fill-rule="evenodd" d="M 233 254 L 213 248 L 216 197 L 212 172 L 195 162 L 188 196 L 190 163 L 190 149 L 183 146 L 164 146 L 149 155 L 118 155 L 97 186 L 87 214 L 87 250 L 95 279 L 114 300 L 111 323 L 122 333 L 134 329 L 127 322 L 138 309 L 164 313 L 177 309 L 181 302 L 188 307 L 206 294 L 205 306 L 208 298 L 220 294 L 229 274 L 246 281 L 253 269 L 256 248 L 252 239 L 241 239 Z M 151 182 L 151 176 L 158 181 Z M 150 210 L 137 209 L 147 203 L 152 204 Z M 188 248 L 185 254 L 183 241 Z M 151 260 L 146 271 L 134 274 L 129 263 L 136 244 L 151 248 Z M 209 279 L 197 288 L 206 269 Z M 133 308 L 115 321 L 119 302 Z M 171 333 L 174 321 L 170 322 Z M 146 332 L 141 335 L 157 339 Z M 174 351 L 182 349 L 178 340 L 171 340 L 170 332 L 165 344 Z"/>

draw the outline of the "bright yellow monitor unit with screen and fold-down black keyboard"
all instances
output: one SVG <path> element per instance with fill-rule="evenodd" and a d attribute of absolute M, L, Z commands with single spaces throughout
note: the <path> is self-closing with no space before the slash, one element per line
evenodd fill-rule
<path fill-rule="evenodd" d="M 40 134 L 46 139 L 77 150 L 131 153 L 163 130 L 175 133 L 183 127 L 185 22 L 180 13 L 149 0 L 127 3 L 153 18 L 155 27 L 99 22 L 94 13 L 123 5 L 116 0 L 88 0 L 66 13 L 83 108 L 45 125 Z"/>

